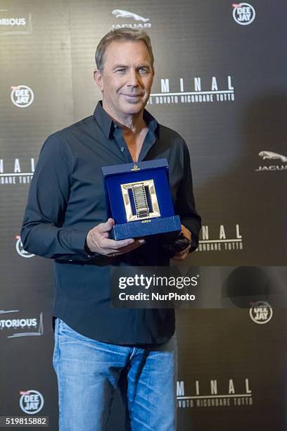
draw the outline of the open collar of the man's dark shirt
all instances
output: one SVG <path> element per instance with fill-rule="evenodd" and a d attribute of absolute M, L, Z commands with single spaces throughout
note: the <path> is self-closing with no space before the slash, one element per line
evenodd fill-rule
<path fill-rule="evenodd" d="M 98 101 L 96 109 L 94 111 L 94 118 L 98 123 L 101 130 L 103 130 L 104 134 L 107 138 L 113 136 L 113 132 L 115 130 L 116 123 L 113 121 L 113 118 L 108 115 L 108 113 L 103 109 L 102 101 Z M 158 135 L 158 121 L 155 120 L 153 115 L 144 109 L 144 120 L 148 128 Z"/>

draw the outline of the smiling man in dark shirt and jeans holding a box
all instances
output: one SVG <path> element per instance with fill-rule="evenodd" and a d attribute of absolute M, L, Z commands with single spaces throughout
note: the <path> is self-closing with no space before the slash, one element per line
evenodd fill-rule
<path fill-rule="evenodd" d="M 182 232 L 198 245 L 189 151 L 144 107 L 153 84 L 145 32 L 114 30 L 98 44 L 94 80 L 103 94 L 94 115 L 51 135 L 30 187 L 21 239 L 27 251 L 54 258 L 53 364 L 60 431 L 106 429 L 116 388 L 127 429 L 175 430 L 177 350 L 172 309 L 110 307 L 108 266 L 169 265 L 158 237 L 114 241 L 101 166 L 167 158 Z M 120 431 L 120 430 L 119 430 Z"/>

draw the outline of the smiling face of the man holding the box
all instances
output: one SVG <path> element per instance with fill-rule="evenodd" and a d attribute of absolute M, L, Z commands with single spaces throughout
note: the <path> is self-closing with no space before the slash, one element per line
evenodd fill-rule
<path fill-rule="evenodd" d="M 103 72 L 95 80 L 103 93 L 103 106 L 116 117 L 144 109 L 153 85 L 153 68 L 146 44 L 111 42 L 103 56 Z"/>

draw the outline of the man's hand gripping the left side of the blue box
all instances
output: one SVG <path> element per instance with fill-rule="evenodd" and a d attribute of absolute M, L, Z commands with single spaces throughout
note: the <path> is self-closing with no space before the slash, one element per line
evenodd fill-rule
<path fill-rule="evenodd" d="M 119 256 L 128 253 L 146 243 L 143 238 L 122 239 L 115 241 L 108 237 L 108 232 L 112 230 L 115 220 L 108 218 L 106 223 L 100 223 L 93 227 L 87 235 L 87 246 L 94 253 L 103 254 L 104 256 Z"/>

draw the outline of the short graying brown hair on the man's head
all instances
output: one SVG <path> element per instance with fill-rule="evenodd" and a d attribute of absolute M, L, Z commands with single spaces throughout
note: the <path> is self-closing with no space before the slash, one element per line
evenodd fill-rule
<path fill-rule="evenodd" d="M 105 55 L 107 46 L 112 42 L 138 42 L 142 41 L 146 44 L 148 54 L 151 58 L 153 68 L 153 49 L 151 47 L 151 39 L 144 30 L 136 30 L 135 28 L 118 28 L 108 32 L 99 42 L 96 48 L 96 67 L 100 72 L 103 72 L 103 56 Z"/>

